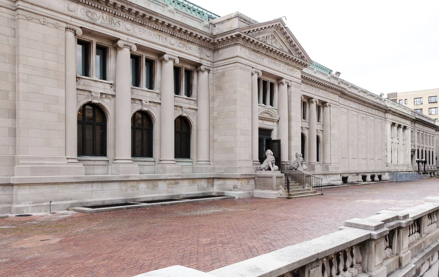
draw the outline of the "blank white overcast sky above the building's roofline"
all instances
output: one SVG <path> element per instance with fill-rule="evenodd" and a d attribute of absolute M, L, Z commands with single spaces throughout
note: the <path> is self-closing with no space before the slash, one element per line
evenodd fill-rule
<path fill-rule="evenodd" d="M 286 16 L 312 60 L 376 94 L 439 88 L 439 0 L 191 0 L 220 16 Z"/>

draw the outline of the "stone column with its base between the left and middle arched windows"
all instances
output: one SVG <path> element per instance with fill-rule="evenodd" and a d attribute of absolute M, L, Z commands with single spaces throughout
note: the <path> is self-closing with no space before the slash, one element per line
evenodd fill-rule
<path fill-rule="evenodd" d="M 137 47 L 123 40 L 113 44 L 116 48 L 115 79 L 115 158 L 112 174 L 139 174 L 139 167 L 131 158 L 131 70 L 130 50 Z"/>

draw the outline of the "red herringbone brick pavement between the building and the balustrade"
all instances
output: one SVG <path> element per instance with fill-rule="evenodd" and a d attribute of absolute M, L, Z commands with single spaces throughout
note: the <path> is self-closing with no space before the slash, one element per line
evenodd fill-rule
<path fill-rule="evenodd" d="M 133 276 L 177 264 L 209 271 L 337 231 L 349 218 L 417 205 L 439 194 L 439 179 L 324 193 L 0 219 L 0 276 Z"/>

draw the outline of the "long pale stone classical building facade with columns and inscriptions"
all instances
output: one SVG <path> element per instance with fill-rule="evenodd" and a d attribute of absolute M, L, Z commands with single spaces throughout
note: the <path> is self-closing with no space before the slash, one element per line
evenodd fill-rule
<path fill-rule="evenodd" d="M 313 62 L 281 19 L 0 0 L 0 28 L 0 213 L 251 197 L 275 142 L 324 184 L 412 171 L 417 149 L 434 160 L 432 119 Z"/>

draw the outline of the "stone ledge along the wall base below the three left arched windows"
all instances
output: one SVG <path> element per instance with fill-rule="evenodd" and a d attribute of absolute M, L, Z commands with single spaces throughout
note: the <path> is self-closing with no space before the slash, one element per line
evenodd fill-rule
<path fill-rule="evenodd" d="M 96 174 L 76 176 L 30 176 L 30 177 L 0 177 L 0 185 L 14 184 L 45 184 L 45 183 L 76 183 L 76 182 L 108 182 L 108 181 L 142 181 L 196 178 L 255 178 L 255 173 L 181 173 L 181 174 Z"/>

